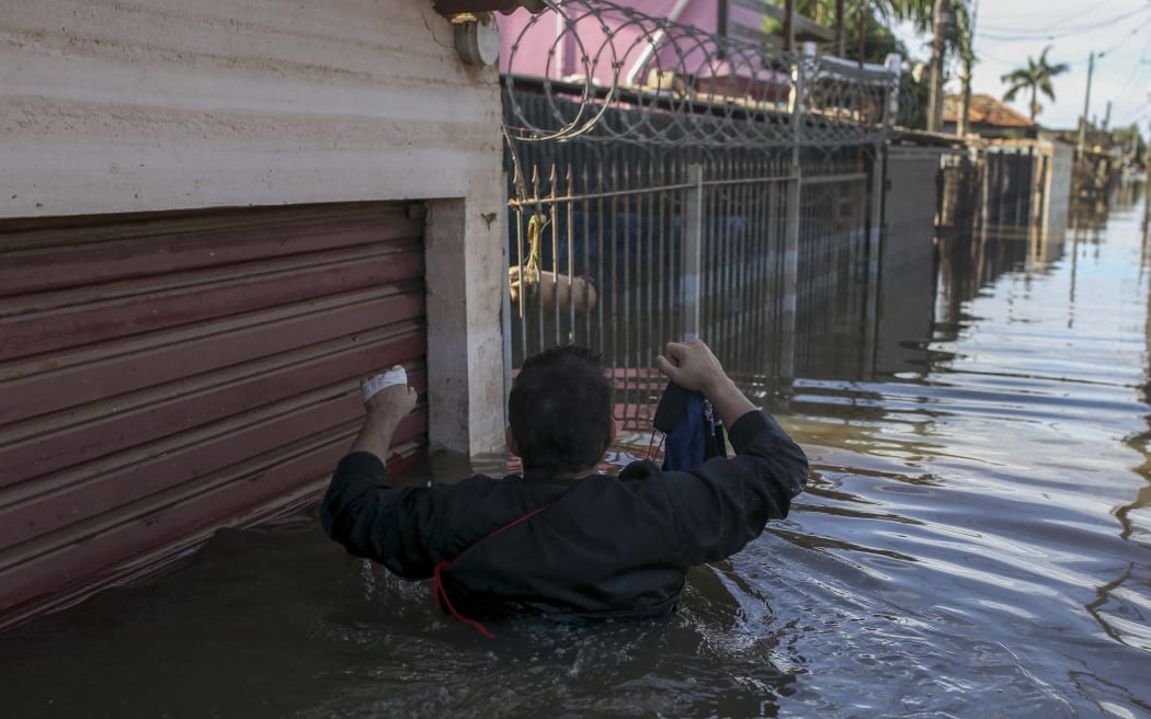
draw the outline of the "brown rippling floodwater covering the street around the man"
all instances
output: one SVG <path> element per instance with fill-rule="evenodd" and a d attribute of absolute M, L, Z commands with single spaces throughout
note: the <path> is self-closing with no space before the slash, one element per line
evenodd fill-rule
<path fill-rule="evenodd" d="M 1058 243 L 946 244 L 870 366 L 813 360 L 762 393 L 809 491 L 693 569 L 671 620 L 487 640 L 302 517 L 0 636 L 2 712 L 1151 716 L 1143 213 L 1127 197 Z"/>

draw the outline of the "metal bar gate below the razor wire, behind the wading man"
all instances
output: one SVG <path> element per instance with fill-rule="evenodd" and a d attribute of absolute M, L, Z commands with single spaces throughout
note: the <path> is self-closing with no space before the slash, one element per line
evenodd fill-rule
<path fill-rule="evenodd" d="M 755 390 L 841 373 L 837 358 L 861 372 L 875 322 L 871 155 L 792 163 L 770 148 L 573 141 L 559 170 L 549 150 L 520 147 L 513 167 L 532 175 L 510 201 L 512 367 L 548 346 L 593 347 L 628 430 L 650 426 L 664 383 L 654 358 L 685 336 Z M 529 275 L 534 286 L 519 280 Z"/>

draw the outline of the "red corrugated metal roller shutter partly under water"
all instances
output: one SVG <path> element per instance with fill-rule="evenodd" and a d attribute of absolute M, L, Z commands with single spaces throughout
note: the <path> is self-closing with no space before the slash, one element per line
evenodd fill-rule
<path fill-rule="evenodd" d="M 0 624 L 314 499 L 374 369 L 424 396 L 414 209 L 0 223 Z"/>

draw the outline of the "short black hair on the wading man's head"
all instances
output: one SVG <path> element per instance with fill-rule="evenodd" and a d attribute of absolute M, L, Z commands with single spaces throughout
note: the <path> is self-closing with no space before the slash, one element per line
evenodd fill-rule
<path fill-rule="evenodd" d="M 563 346 L 529 357 L 512 382 L 508 421 L 524 469 L 597 465 L 612 437 L 611 385 L 599 355 Z"/>

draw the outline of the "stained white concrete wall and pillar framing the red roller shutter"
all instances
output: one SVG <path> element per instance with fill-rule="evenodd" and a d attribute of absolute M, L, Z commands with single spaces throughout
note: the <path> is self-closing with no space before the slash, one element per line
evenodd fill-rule
<path fill-rule="evenodd" d="M 3 2 L 0 33 L 0 217 L 434 199 L 432 443 L 502 444 L 498 77 L 430 1 Z"/>

